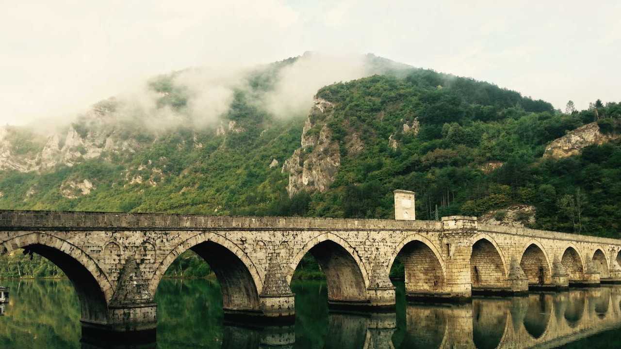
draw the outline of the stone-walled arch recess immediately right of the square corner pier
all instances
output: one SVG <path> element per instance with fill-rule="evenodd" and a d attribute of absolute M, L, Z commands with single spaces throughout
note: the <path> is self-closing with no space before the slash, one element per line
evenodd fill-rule
<path fill-rule="evenodd" d="M 470 255 L 473 288 L 507 286 L 507 265 L 498 245 L 491 237 L 479 237 L 479 235 L 473 239 Z"/>

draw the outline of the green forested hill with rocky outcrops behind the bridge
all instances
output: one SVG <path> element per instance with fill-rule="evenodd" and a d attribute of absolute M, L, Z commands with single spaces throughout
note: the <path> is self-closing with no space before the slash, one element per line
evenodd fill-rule
<path fill-rule="evenodd" d="M 150 82 L 153 109 L 107 99 L 51 135 L 4 127 L 0 208 L 391 218 L 392 191 L 409 189 L 418 219 L 487 215 L 621 237 L 620 104 L 555 111 L 494 84 L 366 59 L 373 75 L 320 88 L 304 114 L 258 102 L 291 58 L 245 75 L 217 122 L 193 119 L 199 93 L 177 72 Z M 589 124 L 596 141 L 546 155 Z"/>

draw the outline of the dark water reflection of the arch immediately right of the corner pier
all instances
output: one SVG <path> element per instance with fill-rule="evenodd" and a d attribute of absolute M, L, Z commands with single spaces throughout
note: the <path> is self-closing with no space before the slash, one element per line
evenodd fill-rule
<path fill-rule="evenodd" d="M 507 332 L 507 303 L 492 299 L 473 299 L 473 342 L 477 349 L 495 349 Z"/>

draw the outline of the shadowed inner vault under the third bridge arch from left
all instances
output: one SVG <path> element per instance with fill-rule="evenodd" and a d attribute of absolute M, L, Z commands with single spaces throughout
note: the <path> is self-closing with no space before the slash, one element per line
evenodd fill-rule
<path fill-rule="evenodd" d="M 315 257 L 325 274 L 329 301 L 367 301 L 360 259 L 356 260 L 345 247 L 327 237 L 304 250 Z"/>

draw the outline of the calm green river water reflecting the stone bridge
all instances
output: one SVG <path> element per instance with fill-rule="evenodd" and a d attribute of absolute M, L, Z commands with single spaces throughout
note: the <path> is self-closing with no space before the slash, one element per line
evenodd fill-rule
<path fill-rule="evenodd" d="M 0 348 L 111 347 L 82 338 L 69 281 L 2 286 L 11 288 L 11 297 L 0 305 Z M 292 289 L 294 326 L 248 327 L 224 322 L 217 281 L 165 279 L 156 294 L 156 343 L 140 348 L 621 347 L 620 286 L 431 305 L 406 302 L 397 284 L 396 312 L 384 314 L 329 312 L 322 281 L 295 281 Z"/>

